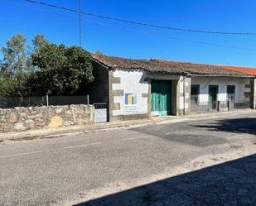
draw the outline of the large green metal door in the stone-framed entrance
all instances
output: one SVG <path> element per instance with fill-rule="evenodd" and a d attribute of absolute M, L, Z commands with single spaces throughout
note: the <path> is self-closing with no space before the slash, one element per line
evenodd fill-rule
<path fill-rule="evenodd" d="M 171 81 L 152 80 L 151 87 L 152 115 L 167 116 L 171 114 Z"/>

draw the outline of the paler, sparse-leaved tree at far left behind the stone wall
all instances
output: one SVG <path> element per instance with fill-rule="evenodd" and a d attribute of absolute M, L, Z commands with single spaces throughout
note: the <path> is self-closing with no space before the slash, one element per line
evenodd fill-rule
<path fill-rule="evenodd" d="M 33 48 L 27 46 L 22 34 L 12 36 L 7 46 L 2 47 L 0 60 L 0 98 L 23 97 L 27 95 L 27 80 L 34 76 L 36 68 L 31 65 L 31 53 L 46 45 L 44 36 L 36 35 Z"/>

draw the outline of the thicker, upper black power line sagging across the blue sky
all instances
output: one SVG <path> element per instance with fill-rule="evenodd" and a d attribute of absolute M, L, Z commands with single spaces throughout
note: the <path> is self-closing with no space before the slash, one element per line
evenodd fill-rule
<path fill-rule="evenodd" d="M 160 25 L 155 25 L 155 24 L 150 24 L 150 23 L 145 23 L 145 22 L 134 22 L 134 21 L 130 21 L 130 20 L 117 18 L 117 17 L 108 17 L 108 16 L 99 15 L 99 14 L 95 14 L 95 13 L 78 11 L 78 10 L 75 10 L 75 9 L 72 9 L 72 8 L 61 7 L 61 6 L 57 6 L 57 5 L 54 5 L 54 4 L 49 4 L 49 3 L 46 3 L 46 2 L 37 2 L 37 1 L 34 1 L 34 0 L 24 0 L 24 1 L 31 2 L 31 3 L 36 3 L 36 4 L 41 4 L 41 5 L 47 6 L 47 7 L 55 7 L 55 8 L 59 8 L 59 9 L 65 10 L 65 11 L 69 11 L 69 12 L 79 12 L 79 13 L 85 14 L 85 15 L 90 16 L 90 17 L 98 17 L 98 18 L 108 19 L 108 20 L 112 20 L 112 21 L 116 21 L 116 22 L 135 24 L 135 25 L 139 25 L 139 26 L 155 27 L 155 28 L 158 28 L 158 29 L 166 29 L 166 30 L 172 30 L 172 31 L 186 31 L 186 32 L 194 32 L 194 33 L 217 34 L 217 35 L 256 36 L 256 32 L 206 31 L 206 30 L 193 30 L 193 29 L 185 29 L 185 28 L 178 28 L 178 27 L 171 27 L 171 26 L 160 26 Z"/>

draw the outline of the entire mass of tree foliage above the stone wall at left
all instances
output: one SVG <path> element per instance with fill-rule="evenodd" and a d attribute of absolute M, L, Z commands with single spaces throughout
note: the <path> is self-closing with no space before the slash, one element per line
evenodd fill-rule
<path fill-rule="evenodd" d="M 32 47 L 22 34 L 2 47 L 0 98 L 73 94 L 93 81 L 91 55 L 77 46 L 56 46 L 36 35 Z"/>

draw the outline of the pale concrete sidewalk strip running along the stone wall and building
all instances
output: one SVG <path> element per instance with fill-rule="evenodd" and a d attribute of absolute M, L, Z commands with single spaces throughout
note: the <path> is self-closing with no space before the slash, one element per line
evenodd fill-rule
<path fill-rule="evenodd" d="M 169 116 L 169 117 L 152 117 L 151 119 L 142 119 L 142 120 L 131 120 L 124 122 L 104 122 L 104 123 L 95 123 L 91 125 L 82 125 L 82 126 L 71 126 L 71 127 L 59 127 L 54 129 L 40 129 L 40 130 L 29 130 L 24 132 L 5 132 L 0 134 L 0 141 L 5 140 L 17 140 L 17 139 L 32 139 L 36 137 L 55 137 L 61 136 L 68 133 L 74 132 L 94 132 L 102 131 L 114 128 L 124 128 L 124 127 L 140 127 L 146 125 L 154 124 L 165 124 L 165 123 L 175 123 L 175 122 L 186 122 L 199 119 L 213 119 L 213 118 L 226 118 L 233 117 L 239 114 L 254 113 L 256 111 L 251 109 L 241 109 L 234 110 L 232 112 L 225 113 L 201 113 L 201 114 L 191 114 L 186 116 Z"/>

